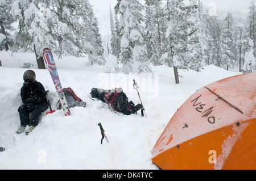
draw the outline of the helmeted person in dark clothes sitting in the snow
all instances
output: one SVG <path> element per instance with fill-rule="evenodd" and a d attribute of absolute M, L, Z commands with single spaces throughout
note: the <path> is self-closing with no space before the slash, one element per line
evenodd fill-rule
<path fill-rule="evenodd" d="M 23 74 L 24 83 L 20 89 L 22 105 L 18 109 L 20 127 L 16 131 L 17 134 L 23 133 L 27 125 L 26 134 L 30 133 L 38 125 L 41 113 L 49 107 L 46 90 L 35 78 L 36 74 L 33 70 L 27 70 Z"/>

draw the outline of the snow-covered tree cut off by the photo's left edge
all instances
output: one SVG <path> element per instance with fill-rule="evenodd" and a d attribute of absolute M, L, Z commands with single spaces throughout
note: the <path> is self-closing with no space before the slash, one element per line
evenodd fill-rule
<path fill-rule="evenodd" d="M 14 22 L 13 16 L 10 14 L 11 0 L 0 1 L 0 50 L 9 50 L 10 45 L 13 45 L 13 36 L 10 31 L 13 31 L 11 23 Z"/>

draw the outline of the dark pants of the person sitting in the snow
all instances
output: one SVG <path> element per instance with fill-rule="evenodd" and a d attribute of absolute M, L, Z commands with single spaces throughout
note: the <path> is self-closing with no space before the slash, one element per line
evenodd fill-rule
<path fill-rule="evenodd" d="M 18 109 L 20 124 L 23 127 L 26 127 L 27 125 L 36 127 L 36 125 L 38 125 L 41 113 L 46 111 L 48 107 L 48 103 L 42 103 L 36 104 L 33 110 L 28 110 L 27 105 L 22 104 L 22 106 L 20 106 Z M 29 113 L 31 113 L 31 116 L 29 115 Z"/>

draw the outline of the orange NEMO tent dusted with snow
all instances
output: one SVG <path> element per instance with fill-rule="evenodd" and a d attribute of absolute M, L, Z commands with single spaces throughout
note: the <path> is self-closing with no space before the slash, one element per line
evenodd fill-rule
<path fill-rule="evenodd" d="M 256 169 L 256 73 L 197 90 L 151 153 L 160 169 Z"/>

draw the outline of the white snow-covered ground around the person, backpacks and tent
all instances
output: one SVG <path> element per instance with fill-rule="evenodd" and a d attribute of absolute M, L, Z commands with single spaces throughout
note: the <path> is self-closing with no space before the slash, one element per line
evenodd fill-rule
<path fill-rule="evenodd" d="M 71 108 L 72 115 L 67 117 L 62 110 L 47 116 L 43 113 L 38 127 L 26 136 L 15 134 L 20 124 L 19 92 L 27 70 L 22 68 L 24 63 L 31 64 L 37 81 L 50 91 L 54 108 L 57 92 L 48 70 L 37 69 L 33 53 L 11 56 L 2 51 L 0 60 L 0 146 L 6 148 L 0 153 L 0 169 L 157 169 L 150 151 L 177 108 L 200 87 L 239 74 L 213 65 L 200 73 L 179 70 L 183 78 L 176 85 L 173 69 L 167 66 L 152 67 L 152 74 L 106 74 L 102 73 L 104 66 L 86 66 L 86 56 L 55 56 L 63 87 L 71 87 L 87 106 Z M 129 100 L 137 104 L 133 78 L 138 82 L 147 117 L 117 115 L 107 104 L 90 99 L 92 87 L 122 87 Z M 98 123 L 104 127 L 110 144 L 106 140 L 100 144 Z"/>

